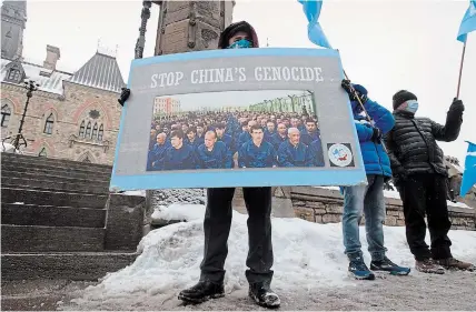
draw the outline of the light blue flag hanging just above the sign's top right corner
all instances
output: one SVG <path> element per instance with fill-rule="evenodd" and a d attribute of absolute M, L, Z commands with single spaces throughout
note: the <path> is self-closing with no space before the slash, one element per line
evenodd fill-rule
<path fill-rule="evenodd" d="M 476 1 L 476 0 L 475 0 Z M 306 14 L 307 21 L 307 36 L 309 40 L 323 48 L 333 49 L 329 41 L 324 34 L 324 30 L 319 24 L 320 9 L 323 8 L 321 0 L 298 0 L 303 4 L 304 13 Z"/>

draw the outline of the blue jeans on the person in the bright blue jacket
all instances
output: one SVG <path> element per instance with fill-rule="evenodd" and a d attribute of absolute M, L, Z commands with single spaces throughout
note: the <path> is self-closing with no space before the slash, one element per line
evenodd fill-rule
<path fill-rule="evenodd" d="M 367 185 L 344 187 L 343 233 L 345 253 L 349 259 L 361 256 L 359 223 L 365 214 L 368 252 L 373 261 L 380 261 L 387 249 L 384 246 L 385 199 L 384 177 L 367 175 Z"/>

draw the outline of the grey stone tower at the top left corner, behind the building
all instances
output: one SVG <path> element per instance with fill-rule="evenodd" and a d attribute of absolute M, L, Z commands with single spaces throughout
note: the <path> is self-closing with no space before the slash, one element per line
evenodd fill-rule
<path fill-rule="evenodd" d="M 21 59 L 27 1 L 3 1 L 1 7 L 1 58 Z"/>

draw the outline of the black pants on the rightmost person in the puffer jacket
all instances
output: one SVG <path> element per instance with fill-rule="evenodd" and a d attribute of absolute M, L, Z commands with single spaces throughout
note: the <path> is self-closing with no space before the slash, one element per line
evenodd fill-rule
<path fill-rule="evenodd" d="M 413 174 L 399 185 L 404 203 L 407 242 L 416 260 L 450 258 L 452 222 L 446 204 L 446 179 L 438 174 Z M 432 249 L 425 242 L 428 220 Z"/>

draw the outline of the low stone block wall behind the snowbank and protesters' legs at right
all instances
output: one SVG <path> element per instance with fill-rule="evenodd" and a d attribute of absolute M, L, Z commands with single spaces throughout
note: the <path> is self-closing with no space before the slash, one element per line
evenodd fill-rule
<path fill-rule="evenodd" d="M 316 223 L 337 223 L 341 221 L 343 197 L 338 190 L 313 187 L 280 188 L 290 189 L 292 209 L 297 218 Z M 286 192 L 281 192 L 286 197 Z M 275 192 L 275 197 L 277 192 Z M 405 225 L 401 201 L 386 198 L 387 217 L 385 224 L 389 227 Z M 476 209 L 448 207 L 453 230 L 476 231 Z M 365 218 L 361 220 L 365 224 Z"/>

